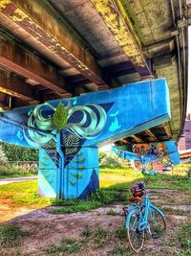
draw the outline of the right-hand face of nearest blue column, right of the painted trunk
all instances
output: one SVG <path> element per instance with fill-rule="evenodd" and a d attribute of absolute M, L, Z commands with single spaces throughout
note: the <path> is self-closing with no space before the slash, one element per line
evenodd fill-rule
<path fill-rule="evenodd" d="M 82 147 L 66 148 L 65 152 L 62 198 L 88 198 L 99 188 L 98 150 L 96 147 Z M 75 156 L 70 160 L 73 154 Z"/>

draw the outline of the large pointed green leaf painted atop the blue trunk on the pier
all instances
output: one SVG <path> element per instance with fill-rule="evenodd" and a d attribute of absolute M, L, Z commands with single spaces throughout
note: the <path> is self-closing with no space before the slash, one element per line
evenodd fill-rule
<path fill-rule="evenodd" d="M 66 127 L 67 124 L 67 109 L 62 104 L 59 103 L 53 113 L 53 126 L 58 130 Z"/>

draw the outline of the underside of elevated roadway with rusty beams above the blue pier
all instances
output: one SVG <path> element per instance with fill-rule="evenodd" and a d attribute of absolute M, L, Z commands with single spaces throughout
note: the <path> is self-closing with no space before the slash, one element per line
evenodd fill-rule
<path fill-rule="evenodd" d="M 164 77 L 171 122 L 124 139 L 178 139 L 186 113 L 190 23 L 189 0 L 0 0 L 0 106 Z"/>

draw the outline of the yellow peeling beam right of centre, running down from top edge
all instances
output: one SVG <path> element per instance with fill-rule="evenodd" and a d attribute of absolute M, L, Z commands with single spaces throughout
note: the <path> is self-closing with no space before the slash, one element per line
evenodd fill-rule
<path fill-rule="evenodd" d="M 152 73 L 143 56 L 141 45 L 131 21 L 120 0 L 91 0 L 96 11 L 117 39 L 126 56 L 136 67 L 140 76 L 152 77 Z"/>

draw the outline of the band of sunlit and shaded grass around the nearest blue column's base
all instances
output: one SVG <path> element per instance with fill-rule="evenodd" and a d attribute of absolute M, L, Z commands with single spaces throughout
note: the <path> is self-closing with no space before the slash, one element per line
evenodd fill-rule
<path fill-rule="evenodd" d="M 129 188 L 146 178 L 146 175 L 132 173 L 131 169 L 100 169 L 100 189 L 92 194 L 88 200 L 58 200 L 51 198 L 40 198 L 37 193 L 37 180 L 1 185 L 0 199 L 10 199 L 12 203 L 20 206 L 44 207 L 47 205 L 59 205 L 53 210 L 57 214 L 69 214 L 74 212 L 85 212 L 96 209 L 104 204 L 114 201 L 127 203 L 131 196 Z M 191 179 L 182 175 L 154 175 L 148 188 L 167 188 L 179 191 L 191 191 Z"/>

